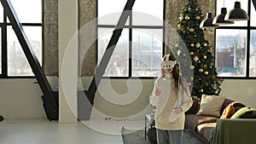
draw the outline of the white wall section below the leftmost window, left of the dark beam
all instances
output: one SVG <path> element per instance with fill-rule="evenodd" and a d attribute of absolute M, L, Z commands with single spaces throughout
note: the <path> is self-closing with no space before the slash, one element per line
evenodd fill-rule
<path fill-rule="evenodd" d="M 46 118 L 36 79 L 0 79 L 0 114 L 5 118 Z"/>

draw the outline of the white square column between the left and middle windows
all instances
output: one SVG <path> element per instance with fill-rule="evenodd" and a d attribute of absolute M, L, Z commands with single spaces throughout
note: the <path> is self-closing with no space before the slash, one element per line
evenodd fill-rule
<path fill-rule="evenodd" d="M 77 122 L 78 0 L 59 0 L 59 122 Z"/>

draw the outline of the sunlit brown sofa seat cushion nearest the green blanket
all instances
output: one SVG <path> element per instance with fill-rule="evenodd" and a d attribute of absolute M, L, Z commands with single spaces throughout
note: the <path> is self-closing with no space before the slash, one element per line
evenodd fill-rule
<path fill-rule="evenodd" d="M 216 123 L 199 124 L 196 128 L 196 132 L 202 135 L 208 141 L 215 126 Z"/>

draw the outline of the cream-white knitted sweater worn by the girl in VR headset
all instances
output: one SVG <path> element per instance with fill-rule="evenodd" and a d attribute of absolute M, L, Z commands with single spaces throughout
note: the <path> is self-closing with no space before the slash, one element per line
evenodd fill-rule
<path fill-rule="evenodd" d="M 179 84 L 176 92 L 172 75 L 165 78 L 157 78 L 154 89 L 149 96 L 149 102 L 156 107 L 155 127 L 160 130 L 183 130 L 185 113 L 192 106 L 189 86 L 186 83 Z M 160 89 L 160 95 L 155 95 L 155 89 Z M 178 95 L 177 95 L 178 94 Z M 180 107 L 183 112 L 175 114 L 174 108 Z"/>

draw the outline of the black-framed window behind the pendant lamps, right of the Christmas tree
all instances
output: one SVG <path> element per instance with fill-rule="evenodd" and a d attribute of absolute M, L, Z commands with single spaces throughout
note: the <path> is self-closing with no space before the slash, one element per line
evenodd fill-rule
<path fill-rule="evenodd" d="M 234 9 L 236 0 L 217 0 L 216 14 L 221 8 Z M 223 78 L 256 78 L 256 23 L 255 8 L 251 0 L 241 2 L 241 9 L 249 20 L 216 28 L 216 67 Z"/>

